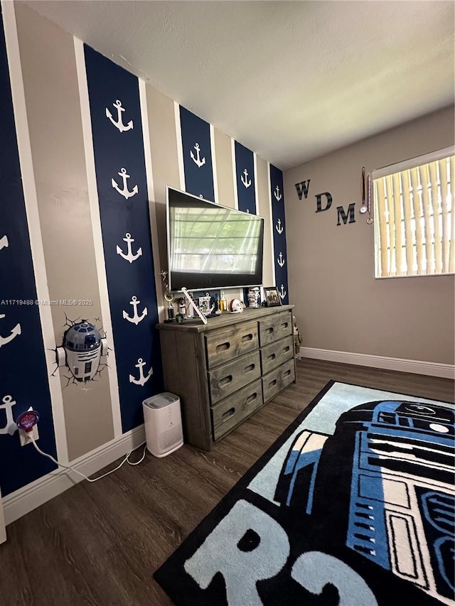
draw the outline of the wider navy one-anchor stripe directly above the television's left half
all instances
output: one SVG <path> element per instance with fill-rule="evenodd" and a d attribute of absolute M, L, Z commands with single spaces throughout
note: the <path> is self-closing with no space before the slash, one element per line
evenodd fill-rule
<path fill-rule="evenodd" d="M 215 202 L 210 124 L 180 106 L 180 126 L 186 191 Z"/>

